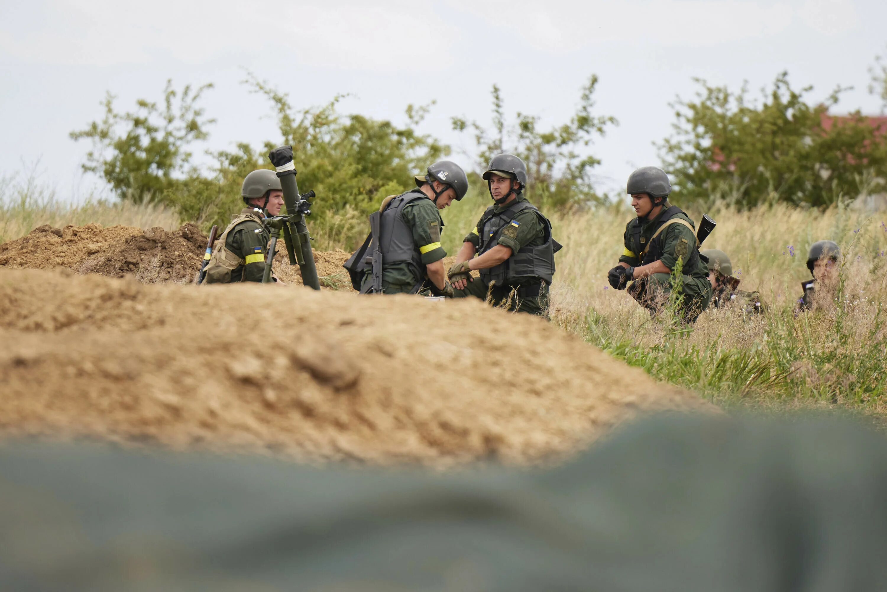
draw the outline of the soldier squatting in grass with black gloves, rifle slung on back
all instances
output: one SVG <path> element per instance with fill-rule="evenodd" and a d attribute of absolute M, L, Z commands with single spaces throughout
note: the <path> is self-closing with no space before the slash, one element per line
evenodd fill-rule
<path fill-rule="evenodd" d="M 628 193 L 638 217 L 625 226 L 624 252 L 608 273 L 610 286 L 622 290 L 633 280 L 629 294 L 652 314 L 671 294 L 671 270 L 681 259 L 680 314 L 695 322 L 708 308 L 711 284 L 699 257 L 693 220 L 668 202 L 671 182 L 662 169 L 635 170 L 628 178 Z"/>

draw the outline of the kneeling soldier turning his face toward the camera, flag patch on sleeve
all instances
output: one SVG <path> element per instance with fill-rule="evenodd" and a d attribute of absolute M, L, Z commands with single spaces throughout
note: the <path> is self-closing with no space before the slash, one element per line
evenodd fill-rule
<path fill-rule="evenodd" d="M 494 156 L 483 173 L 494 201 L 462 243 L 449 277 L 456 297 L 491 298 L 509 311 L 548 317 L 554 253 L 548 218 L 527 201 L 527 166 L 512 154 Z M 478 257 L 475 257 L 475 253 Z M 480 279 L 470 272 L 478 270 Z"/>

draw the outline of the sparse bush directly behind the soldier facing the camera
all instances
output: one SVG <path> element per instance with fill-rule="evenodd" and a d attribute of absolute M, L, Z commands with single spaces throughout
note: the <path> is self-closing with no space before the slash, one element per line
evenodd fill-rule
<path fill-rule="evenodd" d="M 600 201 L 593 185 L 594 167 L 600 160 L 587 153 L 595 137 L 603 136 L 616 118 L 593 114 L 598 77 L 592 75 L 582 89 L 577 111 L 568 122 L 540 130 L 538 115 L 518 112 L 507 122 L 505 101 L 497 85 L 492 88 L 492 126 L 452 118 L 454 130 L 474 132 L 478 167 L 484 170 L 496 154 L 515 154 L 527 163 L 530 199 L 554 208 L 571 208 Z"/>

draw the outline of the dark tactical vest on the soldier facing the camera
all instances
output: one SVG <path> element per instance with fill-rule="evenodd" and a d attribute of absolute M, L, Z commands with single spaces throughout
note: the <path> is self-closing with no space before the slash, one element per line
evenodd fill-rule
<path fill-rule="evenodd" d="M 483 255 L 495 247 L 506 226 L 511 224 L 514 217 L 524 209 L 530 209 L 542 222 L 546 229 L 545 242 L 538 247 L 524 246 L 501 264 L 480 270 L 481 279 L 487 284 L 514 286 L 530 278 L 543 280 L 547 284 L 552 282 L 554 253 L 561 249 L 561 245 L 552 238 L 551 222 L 529 201 L 517 201 L 498 214 L 494 213 L 492 208 L 484 212 L 477 227 L 480 238 L 478 255 Z"/>

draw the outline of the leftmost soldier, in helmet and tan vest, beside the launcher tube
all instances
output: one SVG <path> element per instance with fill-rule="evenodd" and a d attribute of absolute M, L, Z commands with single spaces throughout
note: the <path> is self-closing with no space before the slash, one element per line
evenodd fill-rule
<path fill-rule="evenodd" d="M 271 239 L 263 218 L 277 216 L 283 208 L 280 179 L 273 170 L 254 170 L 243 179 L 240 194 L 247 207 L 233 217 L 216 241 L 216 250 L 207 264 L 205 284 L 262 281 Z"/>

